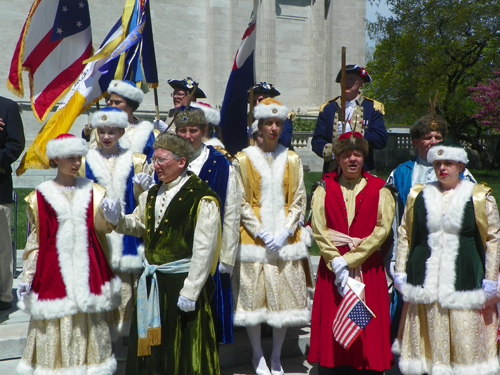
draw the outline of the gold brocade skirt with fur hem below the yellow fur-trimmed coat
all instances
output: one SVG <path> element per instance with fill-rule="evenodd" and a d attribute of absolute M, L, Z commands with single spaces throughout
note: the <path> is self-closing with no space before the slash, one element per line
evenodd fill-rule
<path fill-rule="evenodd" d="M 236 262 L 232 276 L 234 325 L 301 326 L 311 319 L 314 277 L 309 258 L 276 264 Z"/>

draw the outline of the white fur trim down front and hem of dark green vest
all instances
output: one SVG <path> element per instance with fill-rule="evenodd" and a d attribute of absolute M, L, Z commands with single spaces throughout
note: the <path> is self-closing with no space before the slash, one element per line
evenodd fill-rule
<path fill-rule="evenodd" d="M 459 235 L 465 204 L 472 196 L 474 184 L 461 181 L 444 214 L 438 186 L 437 182 L 428 184 L 422 193 L 427 210 L 427 243 L 431 249 L 431 256 L 425 264 L 425 280 L 423 286 L 403 284 L 404 299 L 411 303 L 425 304 L 439 301 L 442 307 L 450 309 L 482 308 L 486 302 L 482 289 L 455 290 Z"/>

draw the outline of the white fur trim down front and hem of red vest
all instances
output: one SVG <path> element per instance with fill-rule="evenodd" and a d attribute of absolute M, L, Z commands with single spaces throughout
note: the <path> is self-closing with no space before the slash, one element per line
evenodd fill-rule
<path fill-rule="evenodd" d="M 24 307 L 34 319 L 52 319 L 82 312 L 102 312 L 115 308 L 120 302 L 121 280 L 115 277 L 101 286 L 101 294 L 90 293 L 87 209 L 93 182 L 77 179 L 78 189 L 71 204 L 61 195 L 53 181 L 37 189 L 57 214 L 56 247 L 66 297 L 59 300 L 38 300 L 31 292 Z"/>

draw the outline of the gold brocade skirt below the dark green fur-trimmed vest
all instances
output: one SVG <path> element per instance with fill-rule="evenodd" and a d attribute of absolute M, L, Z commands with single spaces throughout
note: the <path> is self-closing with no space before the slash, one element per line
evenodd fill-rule
<path fill-rule="evenodd" d="M 433 304 L 403 308 L 398 341 L 403 374 L 496 374 L 498 316 L 495 305 L 452 310 Z"/>

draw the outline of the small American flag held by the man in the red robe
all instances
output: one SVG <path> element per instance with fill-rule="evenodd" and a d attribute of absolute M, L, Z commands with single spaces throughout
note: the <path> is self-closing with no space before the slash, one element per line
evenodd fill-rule
<path fill-rule="evenodd" d="M 333 338 L 344 348 L 349 349 L 371 318 L 370 310 L 349 289 L 342 299 L 337 316 L 333 321 Z"/>

